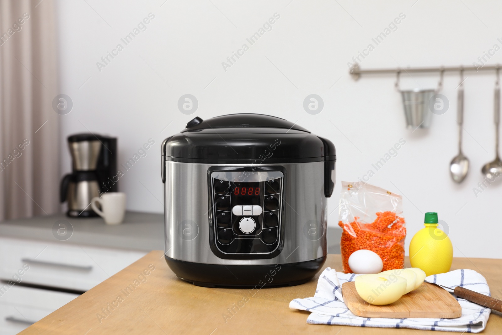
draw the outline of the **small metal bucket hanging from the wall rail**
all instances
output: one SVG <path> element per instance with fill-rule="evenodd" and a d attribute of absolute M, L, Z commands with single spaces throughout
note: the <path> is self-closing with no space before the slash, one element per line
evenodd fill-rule
<path fill-rule="evenodd" d="M 408 129 L 429 128 L 432 121 L 432 111 L 429 100 L 436 94 L 433 89 L 414 89 L 401 91 L 403 108 Z"/>

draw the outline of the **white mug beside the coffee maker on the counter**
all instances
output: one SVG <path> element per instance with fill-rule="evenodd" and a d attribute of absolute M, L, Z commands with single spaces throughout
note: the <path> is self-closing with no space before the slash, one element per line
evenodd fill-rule
<path fill-rule="evenodd" d="M 101 210 L 96 206 L 95 202 L 99 202 Z M 118 225 L 124 219 L 126 214 L 126 193 L 123 192 L 108 192 L 101 194 L 101 197 L 95 196 L 91 200 L 92 209 L 102 218 L 108 225 Z"/>

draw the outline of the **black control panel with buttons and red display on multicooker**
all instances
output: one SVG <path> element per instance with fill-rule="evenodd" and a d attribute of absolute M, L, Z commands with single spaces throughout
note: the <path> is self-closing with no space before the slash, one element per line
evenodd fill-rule
<path fill-rule="evenodd" d="M 210 241 L 217 256 L 253 258 L 278 249 L 283 182 L 281 171 L 211 172 Z"/>

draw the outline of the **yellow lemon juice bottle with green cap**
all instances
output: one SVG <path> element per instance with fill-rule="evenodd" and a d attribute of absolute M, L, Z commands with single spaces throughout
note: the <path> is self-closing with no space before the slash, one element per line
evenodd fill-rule
<path fill-rule="evenodd" d="M 411 266 L 427 276 L 450 271 L 453 246 L 448 235 L 437 228 L 438 213 L 425 213 L 424 226 L 410 242 Z"/>

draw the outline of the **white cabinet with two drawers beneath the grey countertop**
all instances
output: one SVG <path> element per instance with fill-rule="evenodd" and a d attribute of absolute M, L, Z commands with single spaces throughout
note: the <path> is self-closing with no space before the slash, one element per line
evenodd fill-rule
<path fill-rule="evenodd" d="M 146 254 L 0 237 L 0 335 L 16 334 Z"/>

